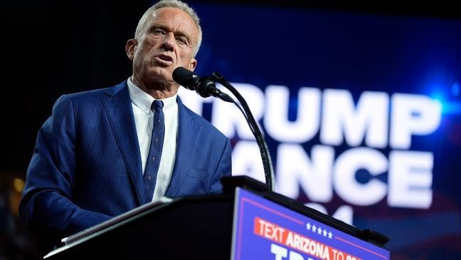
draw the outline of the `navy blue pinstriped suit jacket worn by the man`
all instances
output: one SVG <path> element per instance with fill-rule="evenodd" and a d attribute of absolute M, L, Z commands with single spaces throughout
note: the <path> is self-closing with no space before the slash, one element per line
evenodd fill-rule
<path fill-rule="evenodd" d="M 166 197 L 222 192 L 228 138 L 177 98 L 176 160 Z M 26 227 L 61 239 L 147 203 L 126 80 L 61 96 L 38 132 L 19 206 Z"/>

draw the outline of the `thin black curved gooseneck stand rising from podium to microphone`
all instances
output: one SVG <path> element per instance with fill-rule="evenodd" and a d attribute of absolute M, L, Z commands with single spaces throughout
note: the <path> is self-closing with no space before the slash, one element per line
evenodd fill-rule
<path fill-rule="evenodd" d="M 265 142 L 265 139 L 263 137 L 263 134 L 261 133 L 258 123 L 256 123 L 255 118 L 253 117 L 253 114 L 250 111 L 250 108 L 248 107 L 248 104 L 246 103 L 245 99 L 238 93 L 238 91 L 233 87 L 233 85 L 230 85 L 228 81 L 221 76 L 220 73 L 218 72 L 213 72 L 213 75 L 211 76 L 214 78 L 218 83 L 221 83 L 224 87 L 226 87 L 228 90 L 230 90 L 233 95 L 235 95 L 235 98 L 240 101 L 240 104 L 243 106 L 243 111 L 242 108 L 238 105 L 238 103 L 235 103 L 233 101 L 228 101 L 228 102 L 233 102 L 237 107 L 242 111 L 243 115 L 245 116 L 245 119 L 247 120 L 248 125 L 250 126 L 251 132 L 253 132 L 253 135 L 255 136 L 256 142 L 258 143 L 258 147 L 260 148 L 260 154 L 261 158 L 263 159 L 263 167 L 264 167 L 264 175 L 265 175 L 265 181 L 267 187 L 270 189 L 270 191 L 275 192 L 275 187 L 274 187 L 274 170 L 272 167 L 272 160 L 270 159 L 270 153 L 269 149 L 267 148 L 267 144 Z"/>

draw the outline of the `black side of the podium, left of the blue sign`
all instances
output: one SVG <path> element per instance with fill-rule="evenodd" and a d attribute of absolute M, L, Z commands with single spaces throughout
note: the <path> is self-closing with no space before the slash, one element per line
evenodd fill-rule
<path fill-rule="evenodd" d="M 233 197 L 190 197 L 160 205 L 51 251 L 45 259 L 228 259 Z"/>

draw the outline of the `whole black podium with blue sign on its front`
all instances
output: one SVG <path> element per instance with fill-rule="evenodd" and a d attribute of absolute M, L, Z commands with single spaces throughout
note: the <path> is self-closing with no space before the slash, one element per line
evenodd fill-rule
<path fill-rule="evenodd" d="M 388 238 L 246 176 L 223 194 L 144 204 L 63 239 L 44 259 L 389 259 Z"/>

